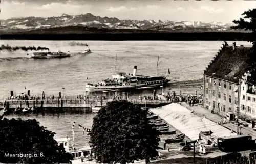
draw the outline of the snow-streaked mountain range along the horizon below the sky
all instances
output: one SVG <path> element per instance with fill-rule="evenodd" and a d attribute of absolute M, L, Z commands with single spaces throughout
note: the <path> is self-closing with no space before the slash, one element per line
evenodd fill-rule
<path fill-rule="evenodd" d="M 81 15 L 62 14 L 58 17 L 22 17 L 1 20 L 1 29 L 46 29 L 66 26 L 84 26 L 98 29 L 140 29 L 157 31 L 196 30 L 230 31 L 232 24 L 221 22 L 203 23 L 200 21 L 154 21 L 120 20 L 118 18 L 94 16 L 91 13 Z"/>

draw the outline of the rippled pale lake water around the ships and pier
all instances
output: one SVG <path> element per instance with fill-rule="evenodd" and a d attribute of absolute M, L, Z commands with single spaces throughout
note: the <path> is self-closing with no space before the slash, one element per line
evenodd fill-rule
<path fill-rule="evenodd" d="M 210 60 L 217 54 L 222 41 L 75 41 L 90 45 L 93 53 L 83 56 L 83 46 L 71 46 L 72 41 L 37 41 L 37 40 L 0 40 L 0 44 L 10 46 L 41 46 L 51 51 L 70 51 L 71 58 L 63 59 L 29 59 L 31 51 L 0 51 L 0 99 L 10 96 L 10 90 L 16 95 L 27 90 L 32 95 L 58 95 L 64 92 L 67 96 L 88 94 L 85 84 L 99 82 L 112 76 L 116 71 L 132 73 L 134 65 L 138 74 L 156 74 L 157 56 L 159 56 L 158 74 L 166 75 L 170 67 L 170 79 L 173 81 L 197 80 L 203 77 L 203 71 Z M 232 41 L 228 42 L 230 45 Z M 250 45 L 237 42 L 237 45 Z M 88 79 L 87 79 L 88 77 Z M 179 83 L 179 82 L 177 82 Z M 168 86 L 168 85 L 166 85 Z M 172 85 L 170 85 L 172 86 Z M 62 87 L 65 89 L 63 90 Z M 168 86 L 169 87 L 169 86 Z M 164 90 L 168 90 L 165 87 Z M 174 91 L 181 90 L 172 87 Z M 199 86 L 182 88 L 182 92 L 200 92 Z M 158 90 L 157 92 L 161 92 Z M 152 90 L 131 92 L 129 95 L 152 94 Z M 112 93 L 110 93 L 112 94 Z M 123 94 L 123 93 L 120 93 Z M 73 121 L 91 127 L 95 114 L 39 114 L 8 115 L 7 118 L 35 118 L 42 126 L 56 132 L 57 137 L 72 136 Z M 76 145 L 84 145 L 89 136 L 82 135 L 82 129 L 75 128 Z M 162 146 L 162 145 L 160 145 Z"/>

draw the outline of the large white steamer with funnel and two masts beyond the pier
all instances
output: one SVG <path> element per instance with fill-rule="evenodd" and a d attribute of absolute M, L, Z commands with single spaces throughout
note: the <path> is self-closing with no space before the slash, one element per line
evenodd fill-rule
<path fill-rule="evenodd" d="M 149 86 L 162 86 L 168 83 L 170 80 L 165 76 L 144 76 L 137 75 L 137 66 L 134 66 L 133 74 L 126 74 L 124 72 L 118 72 L 112 75 L 112 79 L 104 79 L 101 83 L 86 85 L 86 91 L 112 91 L 112 90 L 126 90 L 135 89 Z"/>

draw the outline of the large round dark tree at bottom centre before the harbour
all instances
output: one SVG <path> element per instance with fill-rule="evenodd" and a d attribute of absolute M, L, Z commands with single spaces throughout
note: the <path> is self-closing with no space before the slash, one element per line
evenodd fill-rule
<path fill-rule="evenodd" d="M 99 110 L 89 133 L 97 162 L 133 163 L 158 156 L 159 132 L 147 111 L 127 101 L 113 101 Z"/>

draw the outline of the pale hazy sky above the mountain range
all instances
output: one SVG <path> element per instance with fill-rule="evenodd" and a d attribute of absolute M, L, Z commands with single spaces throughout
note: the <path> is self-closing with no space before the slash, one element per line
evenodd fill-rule
<path fill-rule="evenodd" d="M 252 8 L 256 8 L 255 0 L 2 0 L 0 19 L 92 13 L 119 19 L 231 23 Z"/>

